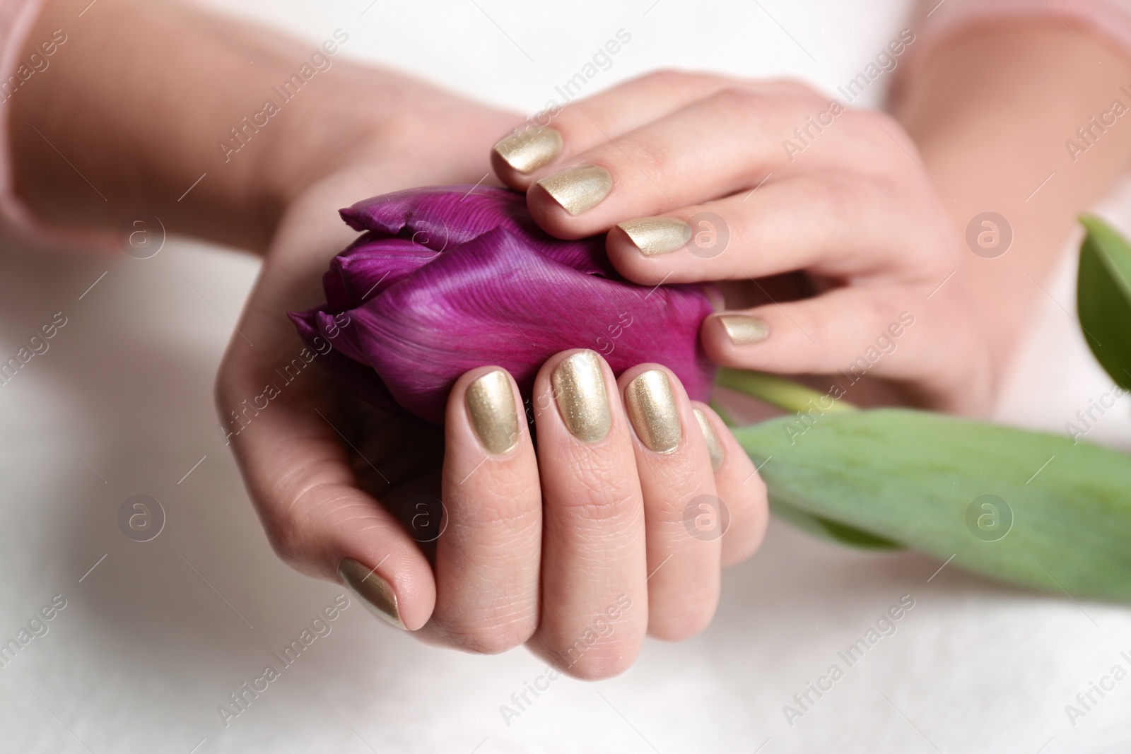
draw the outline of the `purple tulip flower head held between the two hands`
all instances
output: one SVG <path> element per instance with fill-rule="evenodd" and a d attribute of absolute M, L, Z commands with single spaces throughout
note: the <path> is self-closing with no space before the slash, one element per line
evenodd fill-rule
<path fill-rule="evenodd" d="M 706 400 L 715 367 L 699 344 L 702 286 L 649 288 L 610 265 L 604 237 L 555 239 L 506 189 L 438 187 L 342 210 L 365 231 L 330 262 L 326 304 L 291 312 L 303 340 L 348 387 L 442 423 L 456 379 L 504 367 L 529 397 L 553 354 L 593 348 L 615 374 L 657 362 Z"/>

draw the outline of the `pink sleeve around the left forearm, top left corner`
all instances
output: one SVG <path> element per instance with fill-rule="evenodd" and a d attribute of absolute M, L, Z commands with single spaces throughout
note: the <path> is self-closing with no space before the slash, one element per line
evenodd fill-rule
<path fill-rule="evenodd" d="M 51 55 L 58 54 L 66 29 L 49 37 L 36 50 L 23 54 L 27 35 L 46 0 L 0 0 L 0 239 L 33 248 L 118 246 L 113 233 L 64 231 L 41 222 L 16 196 L 12 174 L 8 119 L 12 99 L 35 78 L 50 76 Z M 50 52 L 49 52 L 50 51 Z"/>

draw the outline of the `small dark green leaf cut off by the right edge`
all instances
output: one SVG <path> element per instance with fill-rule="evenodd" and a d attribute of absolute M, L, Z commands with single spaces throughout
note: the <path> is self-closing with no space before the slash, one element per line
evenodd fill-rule
<path fill-rule="evenodd" d="M 1107 374 L 1131 390 L 1131 245 L 1098 217 L 1080 222 L 1088 229 L 1077 280 L 1080 327 Z"/>

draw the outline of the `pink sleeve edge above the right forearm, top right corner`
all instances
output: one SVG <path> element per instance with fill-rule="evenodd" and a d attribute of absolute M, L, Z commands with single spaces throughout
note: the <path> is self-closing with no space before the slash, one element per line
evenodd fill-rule
<path fill-rule="evenodd" d="M 1020 18 L 1044 19 L 1069 29 L 1089 26 L 1131 55 L 1129 0 L 921 0 L 908 67 L 917 68 L 933 46 L 964 27 Z"/>

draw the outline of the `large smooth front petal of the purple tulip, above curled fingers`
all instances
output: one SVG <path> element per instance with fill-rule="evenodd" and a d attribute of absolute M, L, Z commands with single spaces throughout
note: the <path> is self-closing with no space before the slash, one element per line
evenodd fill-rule
<path fill-rule="evenodd" d="M 497 364 L 529 395 L 542 363 L 568 348 L 602 353 L 614 373 L 658 362 L 692 398 L 706 398 L 714 367 L 698 330 L 710 311 L 698 288 L 649 291 L 588 275 L 499 227 L 349 314 L 364 361 L 397 402 L 440 423 L 451 383 L 467 370 Z"/>

